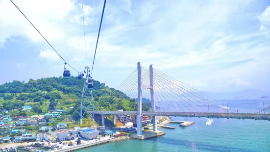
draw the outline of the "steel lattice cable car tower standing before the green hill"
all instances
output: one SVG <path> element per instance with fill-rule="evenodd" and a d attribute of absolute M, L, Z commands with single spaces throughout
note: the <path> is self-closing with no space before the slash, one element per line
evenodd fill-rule
<path fill-rule="evenodd" d="M 88 111 L 93 119 L 93 126 L 94 126 L 95 121 L 94 121 L 94 99 L 93 99 L 93 93 L 92 93 L 93 89 L 88 88 L 88 79 L 91 79 L 90 72 L 89 72 L 90 68 L 86 66 L 85 69 L 86 69 L 86 76 L 85 76 L 85 81 L 83 84 L 82 94 L 81 94 L 80 125 L 82 125 L 82 118 L 85 115 L 85 112 Z M 87 92 L 90 93 L 90 96 L 85 96 L 85 93 Z M 82 109 L 85 109 L 85 111 L 83 112 Z"/>

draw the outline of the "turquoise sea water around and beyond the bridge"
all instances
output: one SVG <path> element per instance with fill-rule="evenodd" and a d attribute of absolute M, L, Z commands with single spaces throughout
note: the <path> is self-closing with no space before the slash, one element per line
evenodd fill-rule
<path fill-rule="evenodd" d="M 223 100 L 239 112 L 255 113 L 270 106 L 269 99 Z M 230 109 L 231 110 L 231 109 Z M 234 111 L 233 111 L 234 112 Z M 270 109 L 265 111 L 269 113 Z M 270 152 L 270 121 L 171 117 L 194 125 L 159 128 L 166 134 L 146 140 L 128 139 L 77 150 L 76 152 Z M 208 124 L 208 126 L 207 126 Z"/>

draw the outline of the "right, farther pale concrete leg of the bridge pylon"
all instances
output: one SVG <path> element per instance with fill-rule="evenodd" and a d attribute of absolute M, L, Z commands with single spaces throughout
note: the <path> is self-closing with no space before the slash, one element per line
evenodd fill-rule
<path fill-rule="evenodd" d="M 156 111 L 155 98 L 154 98 L 154 85 L 153 85 L 153 66 L 152 64 L 149 66 L 149 76 L 150 76 L 150 97 L 151 97 L 151 106 L 152 111 Z M 156 116 L 152 116 L 153 121 L 153 131 L 157 131 L 157 120 Z"/>

